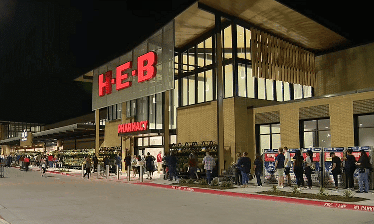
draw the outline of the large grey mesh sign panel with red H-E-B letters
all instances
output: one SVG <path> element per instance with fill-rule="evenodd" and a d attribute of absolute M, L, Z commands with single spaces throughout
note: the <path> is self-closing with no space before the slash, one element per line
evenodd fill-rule
<path fill-rule="evenodd" d="M 93 70 L 92 110 L 174 89 L 174 23 Z"/>

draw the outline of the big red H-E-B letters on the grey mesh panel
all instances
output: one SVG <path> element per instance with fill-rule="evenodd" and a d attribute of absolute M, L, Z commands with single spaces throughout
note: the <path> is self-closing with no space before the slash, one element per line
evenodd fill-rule
<path fill-rule="evenodd" d="M 157 74 L 157 54 L 150 51 L 138 57 L 138 69 L 131 72 L 131 76 L 138 76 L 138 83 L 155 78 Z M 107 71 L 99 75 L 99 97 L 112 93 L 112 85 L 116 84 L 116 90 L 120 91 L 132 86 L 131 81 L 124 82 L 130 76 L 125 71 L 133 67 L 133 62 L 128 61 L 116 68 L 116 78 L 112 78 L 113 71 Z"/>

